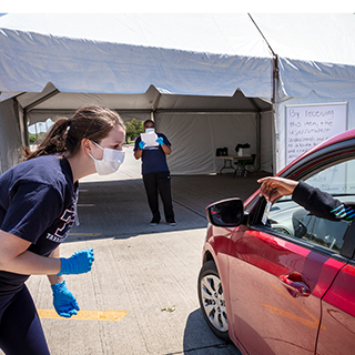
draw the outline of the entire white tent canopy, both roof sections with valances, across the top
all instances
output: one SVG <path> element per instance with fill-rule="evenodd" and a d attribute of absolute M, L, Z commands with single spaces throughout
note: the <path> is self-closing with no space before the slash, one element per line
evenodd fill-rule
<path fill-rule="evenodd" d="M 354 97 L 354 14 L 6 14 L 0 91 Z M 332 80 L 331 80 L 332 79 Z M 327 84 L 328 81 L 332 84 Z M 1 99 L 1 97 L 0 97 Z"/>

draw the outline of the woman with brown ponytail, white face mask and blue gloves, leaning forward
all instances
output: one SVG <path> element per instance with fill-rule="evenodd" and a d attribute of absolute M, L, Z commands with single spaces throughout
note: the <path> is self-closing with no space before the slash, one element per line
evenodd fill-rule
<path fill-rule="evenodd" d="M 30 275 L 48 275 L 59 315 L 79 311 L 63 275 L 89 272 L 93 250 L 64 258 L 59 246 L 77 220 L 79 179 L 116 171 L 124 135 L 115 112 L 82 108 L 59 119 L 36 151 L 24 150 L 24 161 L 0 176 L 0 348 L 6 354 L 49 354 L 24 284 Z"/>

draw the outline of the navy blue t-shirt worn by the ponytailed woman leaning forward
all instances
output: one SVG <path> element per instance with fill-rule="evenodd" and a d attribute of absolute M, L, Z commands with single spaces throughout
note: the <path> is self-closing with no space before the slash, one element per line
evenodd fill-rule
<path fill-rule="evenodd" d="M 0 175 L 0 229 L 31 242 L 29 251 L 48 256 L 68 236 L 77 199 L 67 159 L 45 155 L 22 162 Z M 0 271 L 0 293 L 21 288 L 28 277 Z"/>

